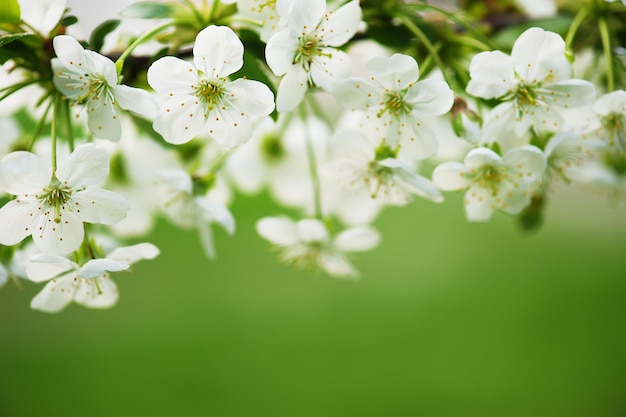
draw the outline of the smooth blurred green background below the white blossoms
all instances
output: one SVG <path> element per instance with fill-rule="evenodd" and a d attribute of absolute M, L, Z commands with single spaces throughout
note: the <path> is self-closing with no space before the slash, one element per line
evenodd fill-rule
<path fill-rule="evenodd" d="M 292 271 L 239 198 L 218 259 L 161 223 L 120 302 L 29 309 L 0 291 L 0 416 L 626 415 L 626 210 L 559 191 L 533 235 L 460 195 L 376 223 L 358 283 Z"/>

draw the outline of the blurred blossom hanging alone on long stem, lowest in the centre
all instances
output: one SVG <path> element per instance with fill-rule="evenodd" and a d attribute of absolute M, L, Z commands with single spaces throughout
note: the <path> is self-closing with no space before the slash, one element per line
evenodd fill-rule
<path fill-rule="evenodd" d="M 371 227 L 356 226 L 331 238 L 320 220 L 294 222 L 286 217 L 264 217 L 257 222 L 257 233 L 276 246 L 285 263 L 297 267 L 321 268 L 335 277 L 356 277 L 358 271 L 347 258 L 351 252 L 368 251 L 380 242 Z"/>

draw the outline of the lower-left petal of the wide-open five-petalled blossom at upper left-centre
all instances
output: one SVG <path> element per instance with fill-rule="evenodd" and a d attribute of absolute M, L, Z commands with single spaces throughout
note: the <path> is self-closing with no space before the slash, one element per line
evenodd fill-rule
<path fill-rule="evenodd" d="M 154 117 L 153 128 L 166 142 L 180 145 L 201 133 L 207 109 L 194 96 L 169 99 Z M 208 133 L 208 132 L 207 132 Z"/>

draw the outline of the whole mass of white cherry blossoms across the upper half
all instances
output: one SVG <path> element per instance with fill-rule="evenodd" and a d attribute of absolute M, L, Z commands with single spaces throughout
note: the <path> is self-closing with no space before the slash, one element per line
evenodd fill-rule
<path fill-rule="evenodd" d="M 30 3 L 20 0 L 14 32 L 0 21 L 0 48 L 20 44 L 2 55 L 0 101 L 34 117 L 27 130 L 0 118 L 0 286 L 47 281 L 37 310 L 113 305 L 111 273 L 159 254 L 121 242 L 146 236 L 158 215 L 197 229 L 215 258 L 211 225 L 235 232 L 237 192 L 268 192 L 300 214 L 257 223 L 281 261 L 354 278 L 349 256 L 379 244 L 372 224 L 386 207 L 466 190 L 467 219 L 483 222 L 496 211 L 537 214 L 559 179 L 626 185 L 626 92 L 615 87 L 626 74 L 607 61 L 606 88 L 575 77 L 576 25 L 567 44 L 531 27 L 510 54 L 473 39 L 476 49 L 449 57 L 463 72 L 446 66 L 420 26 L 430 20 L 409 2 L 388 17 L 403 30 L 394 36 L 411 33 L 427 50 L 420 63 L 415 40 L 399 51 L 369 36 L 379 22 L 367 18 L 383 9 L 358 0 L 172 2 L 163 3 L 171 15 L 143 16 L 165 23 L 113 61 L 93 50 L 104 35 L 91 45 L 72 36 L 64 0 Z M 206 22 L 185 21 L 179 7 Z M 0 19 L 19 21 L 16 10 Z M 125 72 L 155 37 L 168 48 Z"/>

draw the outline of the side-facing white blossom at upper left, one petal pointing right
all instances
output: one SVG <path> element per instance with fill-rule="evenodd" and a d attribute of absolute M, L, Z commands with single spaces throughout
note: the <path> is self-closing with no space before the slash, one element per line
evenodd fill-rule
<path fill-rule="evenodd" d="M 68 99 L 84 104 L 94 136 L 119 140 L 120 108 L 152 117 L 156 105 L 150 94 L 118 84 L 115 63 L 109 58 L 85 50 L 71 36 L 55 37 L 53 46 L 57 56 L 52 59 L 54 85 Z"/>

